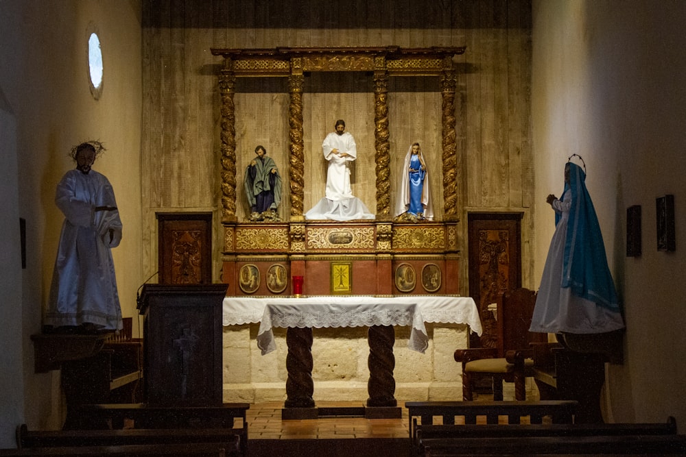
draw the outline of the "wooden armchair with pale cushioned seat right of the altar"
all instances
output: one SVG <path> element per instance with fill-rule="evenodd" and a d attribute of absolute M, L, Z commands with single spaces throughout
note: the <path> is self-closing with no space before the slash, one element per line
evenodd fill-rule
<path fill-rule="evenodd" d="M 493 399 L 503 399 L 503 381 L 514 382 L 514 399 L 525 400 L 524 380 L 533 375 L 530 343 L 544 343 L 547 334 L 529 332 L 536 292 L 527 288 L 507 291 L 497 301 L 497 347 L 457 349 L 462 363 L 462 399 L 473 399 L 480 378 L 493 378 Z"/>

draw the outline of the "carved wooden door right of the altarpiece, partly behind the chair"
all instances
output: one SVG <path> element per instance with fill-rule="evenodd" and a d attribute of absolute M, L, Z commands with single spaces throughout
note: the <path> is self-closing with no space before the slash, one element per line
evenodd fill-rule
<path fill-rule="evenodd" d="M 521 216 L 519 212 L 471 213 L 468 216 L 469 295 L 479 308 L 484 332 L 471 334 L 471 347 L 495 347 L 497 328 L 489 304 L 521 286 Z"/>

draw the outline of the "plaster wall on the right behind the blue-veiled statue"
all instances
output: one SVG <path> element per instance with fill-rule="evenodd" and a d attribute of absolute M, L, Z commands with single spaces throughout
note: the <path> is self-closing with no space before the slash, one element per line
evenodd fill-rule
<path fill-rule="evenodd" d="M 533 4 L 532 119 L 536 281 L 559 195 L 579 153 L 626 313 L 624 365 L 606 370 L 606 420 L 686 421 L 683 171 L 686 2 L 545 0 Z M 676 252 L 657 251 L 655 199 L 673 194 Z M 642 208 L 643 254 L 626 257 L 626 208 Z"/>

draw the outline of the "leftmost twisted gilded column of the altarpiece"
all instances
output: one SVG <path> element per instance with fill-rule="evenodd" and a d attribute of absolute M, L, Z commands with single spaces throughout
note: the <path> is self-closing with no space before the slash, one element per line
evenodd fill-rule
<path fill-rule="evenodd" d="M 220 134 L 222 153 L 222 221 L 236 220 L 236 107 L 233 103 L 236 77 L 222 71 L 219 80 L 222 97 Z"/>

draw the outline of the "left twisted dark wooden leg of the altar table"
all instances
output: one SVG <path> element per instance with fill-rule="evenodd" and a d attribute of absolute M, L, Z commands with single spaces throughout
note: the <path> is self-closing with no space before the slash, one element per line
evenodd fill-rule
<path fill-rule="evenodd" d="M 312 381 L 312 329 L 286 330 L 286 408 L 314 408 L 314 382 Z"/>

